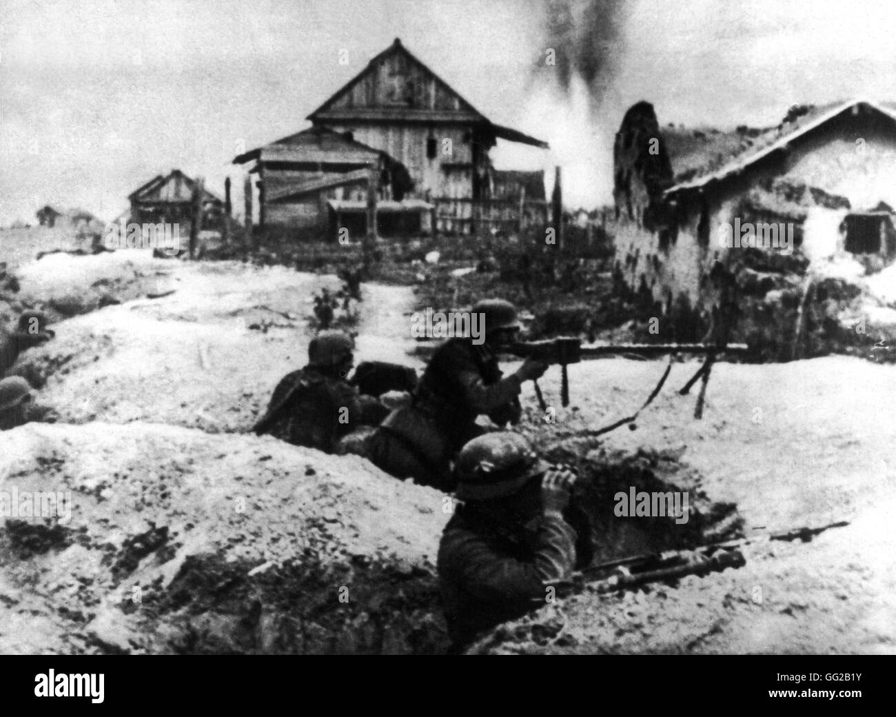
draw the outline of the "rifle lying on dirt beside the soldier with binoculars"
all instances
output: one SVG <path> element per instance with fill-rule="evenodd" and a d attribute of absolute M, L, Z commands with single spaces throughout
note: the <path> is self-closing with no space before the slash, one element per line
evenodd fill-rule
<path fill-rule="evenodd" d="M 720 573 L 728 567 L 737 569 L 746 565 L 741 548 L 746 545 L 771 540 L 802 540 L 808 542 L 814 536 L 849 525 L 847 521 L 830 523 L 818 528 L 804 526 L 796 530 L 773 533 L 758 538 L 740 538 L 724 542 L 708 543 L 694 549 L 666 550 L 659 553 L 622 557 L 609 560 L 573 574 L 570 580 L 553 583 L 558 597 L 575 592 L 616 592 L 633 590 L 647 583 L 675 580 L 685 575 Z M 543 599 L 539 599 L 543 600 Z"/>

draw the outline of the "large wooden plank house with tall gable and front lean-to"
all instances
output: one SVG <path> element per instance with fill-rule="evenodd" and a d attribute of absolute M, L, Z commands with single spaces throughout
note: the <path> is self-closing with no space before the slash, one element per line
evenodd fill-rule
<path fill-rule="evenodd" d="M 399 39 L 307 119 L 310 128 L 234 160 L 257 175 L 263 229 L 357 238 L 374 199 L 384 237 L 547 219 L 543 173 L 499 172 L 488 157 L 498 139 L 547 143 L 492 123 Z"/>

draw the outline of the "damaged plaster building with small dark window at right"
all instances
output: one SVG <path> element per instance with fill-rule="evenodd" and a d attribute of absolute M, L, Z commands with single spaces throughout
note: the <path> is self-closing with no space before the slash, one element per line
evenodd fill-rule
<path fill-rule="evenodd" d="M 639 102 L 614 168 L 616 277 L 677 338 L 702 338 L 728 300 L 732 335 L 765 358 L 856 343 L 862 289 L 825 272 L 896 257 L 896 103 L 795 106 L 779 125 L 721 132 L 662 127 Z"/>

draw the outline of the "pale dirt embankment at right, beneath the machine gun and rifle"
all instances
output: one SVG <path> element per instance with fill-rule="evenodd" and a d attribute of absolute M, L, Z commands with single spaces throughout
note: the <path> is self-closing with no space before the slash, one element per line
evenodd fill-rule
<path fill-rule="evenodd" d="M 538 414 L 530 410 L 532 430 L 542 445 L 580 446 L 597 466 L 609 456 L 613 475 L 629 466 L 623 483 L 656 485 L 652 478 L 639 483 L 640 468 L 653 463 L 660 485 L 711 497 L 707 515 L 719 521 L 708 521 L 704 536 L 742 532 L 753 540 L 744 548 L 746 565 L 636 592 L 558 600 L 495 629 L 474 652 L 896 652 L 896 540 L 889 527 L 896 520 L 896 424 L 886 419 L 896 371 L 847 357 L 718 364 L 704 417 L 694 420 L 694 395 L 675 390 L 694 367 L 674 367 L 638 428 L 603 436 L 590 453 L 587 432 L 631 413 L 662 365 L 571 367 L 573 405 L 556 408 L 550 427 L 542 417 L 534 428 Z M 541 382 L 548 402 L 559 393 L 556 373 Z M 730 505 L 736 514 L 725 513 Z M 650 521 L 616 519 L 607 540 L 612 545 L 623 530 L 637 537 Z M 769 532 L 838 521 L 849 525 L 810 542 L 763 540 Z M 675 540 L 691 530 L 666 528 Z"/>

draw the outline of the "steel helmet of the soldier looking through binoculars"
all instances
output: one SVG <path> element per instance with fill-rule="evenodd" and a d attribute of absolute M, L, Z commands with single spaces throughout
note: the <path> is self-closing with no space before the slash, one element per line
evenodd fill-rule
<path fill-rule="evenodd" d="M 530 479 L 547 471 L 529 440 L 499 431 L 473 438 L 461 448 L 454 469 L 459 500 L 493 500 L 513 496 Z"/>

